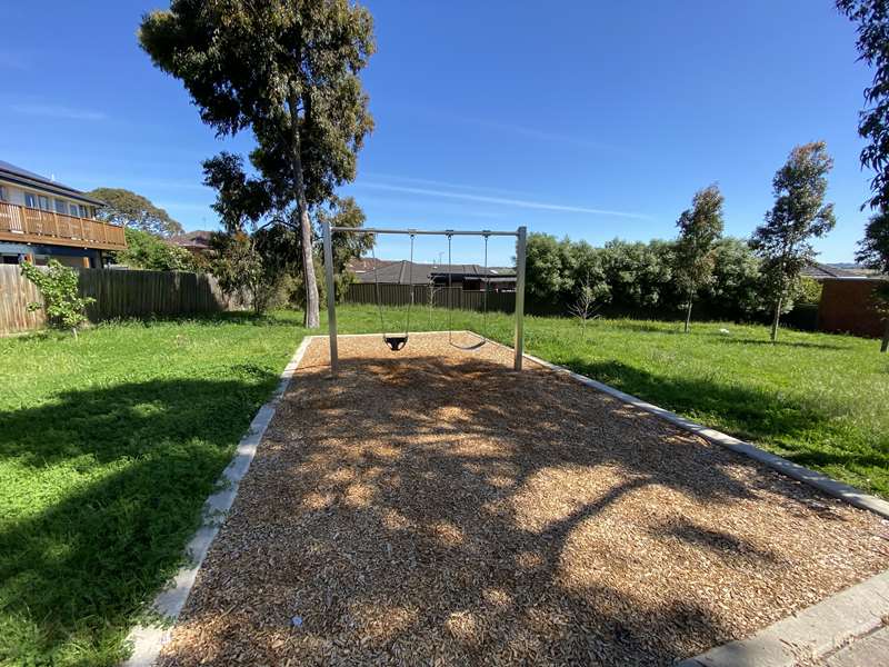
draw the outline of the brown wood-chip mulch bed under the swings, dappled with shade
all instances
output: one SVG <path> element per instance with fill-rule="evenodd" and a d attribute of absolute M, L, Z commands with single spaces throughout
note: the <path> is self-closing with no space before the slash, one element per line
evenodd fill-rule
<path fill-rule="evenodd" d="M 510 352 L 311 344 L 161 665 L 665 665 L 889 567 L 885 524 Z"/>

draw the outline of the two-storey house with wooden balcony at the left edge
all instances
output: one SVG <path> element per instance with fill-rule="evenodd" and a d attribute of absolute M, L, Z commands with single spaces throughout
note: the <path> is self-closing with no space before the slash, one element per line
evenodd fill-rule
<path fill-rule="evenodd" d="M 123 228 L 96 219 L 103 205 L 83 192 L 0 160 L 0 263 L 50 259 L 98 268 L 127 247 Z"/>

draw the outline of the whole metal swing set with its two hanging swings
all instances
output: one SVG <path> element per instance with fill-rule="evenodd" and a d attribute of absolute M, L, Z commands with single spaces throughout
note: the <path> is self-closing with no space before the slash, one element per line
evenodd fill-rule
<path fill-rule="evenodd" d="M 380 313 L 380 331 L 382 335 L 383 342 L 389 347 L 390 350 L 393 352 L 401 351 L 404 349 L 404 346 L 408 345 L 408 340 L 410 338 L 410 312 L 413 307 L 413 240 L 418 235 L 423 236 L 444 236 L 448 238 L 448 342 L 453 347 L 458 347 L 462 350 L 471 351 L 479 349 L 486 342 L 488 342 L 488 239 L 492 236 L 496 237 L 516 237 L 516 331 L 515 331 L 515 350 L 516 350 L 516 359 L 515 359 L 515 369 L 521 370 L 521 360 L 522 360 L 522 351 L 523 351 L 523 319 L 525 319 L 525 248 L 526 248 L 526 240 L 527 240 L 527 229 L 525 227 L 519 227 L 516 231 L 491 231 L 491 230 L 481 230 L 481 231 L 466 231 L 466 230 L 455 230 L 455 229 L 446 229 L 442 231 L 429 231 L 429 230 L 421 230 L 421 229 L 373 229 L 373 228 L 364 228 L 364 227 L 336 227 L 331 226 L 329 222 L 324 222 L 323 225 L 323 233 L 324 233 L 324 276 L 327 279 L 327 311 L 328 311 L 328 328 L 330 332 L 330 367 L 331 370 L 336 374 L 338 366 L 339 366 L 339 356 L 337 352 L 337 299 L 336 299 L 336 291 L 334 291 L 334 283 L 333 283 L 333 233 L 341 232 L 341 233 L 399 233 L 399 235 L 408 235 L 410 237 L 410 298 L 408 300 L 408 309 L 404 317 L 404 332 L 398 334 L 390 334 L 386 329 L 386 320 L 383 318 L 382 312 L 382 300 L 380 299 L 380 280 L 379 280 L 379 267 L 377 267 L 377 255 L 371 247 L 371 253 L 374 260 L 374 269 L 373 269 L 373 285 L 374 285 L 374 297 L 377 301 L 377 308 Z M 453 327 L 451 325 L 451 313 L 453 308 L 451 307 L 452 301 L 452 275 L 453 275 L 453 266 L 451 263 L 451 241 L 456 236 L 480 236 L 485 239 L 485 275 L 482 276 L 482 280 L 485 283 L 485 292 L 482 295 L 482 336 L 479 337 L 479 341 L 472 344 L 470 346 L 459 346 L 453 341 Z"/>

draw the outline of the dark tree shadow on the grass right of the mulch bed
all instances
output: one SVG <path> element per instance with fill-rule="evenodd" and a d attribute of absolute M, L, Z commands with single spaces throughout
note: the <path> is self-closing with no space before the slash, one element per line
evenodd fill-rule
<path fill-rule="evenodd" d="M 573 358 L 562 365 L 661 408 L 716 417 L 726 425 L 722 428 L 740 438 L 797 438 L 829 422 L 810 405 L 779 398 L 771 391 L 703 378 L 665 377 L 616 360 Z"/>

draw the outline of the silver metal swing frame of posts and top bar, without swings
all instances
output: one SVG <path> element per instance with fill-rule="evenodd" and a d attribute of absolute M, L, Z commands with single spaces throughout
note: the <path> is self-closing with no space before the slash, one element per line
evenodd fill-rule
<path fill-rule="evenodd" d="M 337 349 L 337 295 L 336 286 L 333 282 L 333 235 L 341 233 L 400 233 L 410 236 L 411 239 L 416 236 L 444 236 L 449 241 L 456 236 L 480 236 L 487 239 L 489 237 L 515 237 L 516 238 L 516 328 L 513 336 L 513 348 L 516 351 L 513 368 L 521 370 L 522 355 L 525 354 L 525 252 L 527 246 L 528 230 L 526 227 L 519 227 L 516 231 L 491 231 L 488 229 L 479 231 L 467 231 L 458 229 L 443 229 L 443 230 L 427 230 L 427 229 L 380 229 L 372 227 L 338 227 L 331 226 L 329 222 L 323 222 L 324 235 L 324 278 L 327 283 L 327 321 L 330 340 L 330 369 L 333 374 L 339 370 L 339 354 Z M 486 248 L 487 253 L 487 248 Z M 452 268 L 448 266 L 448 279 L 450 281 L 450 271 Z M 486 300 L 487 300 L 486 283 Z M 413 298 L 413 286 L 410 286 L 411 299 Z M 449 295 L 450 298 L 450 295 Z M 487 302 L 486 302 L 487 307 Z M 487 310 L 487 308 L 486 308 Z M 450 325 L 449 336 L 450 336 Z M 384 332 L 383 332 L 384 334 Z M 406 332 L 407 339 L 407 332 Z M 450 340 L 450 338 L 449 338 Z M 402 346 L 403 347 L 403 346 Z M 400 348 L 399 348 L 400 349 Z"/>

